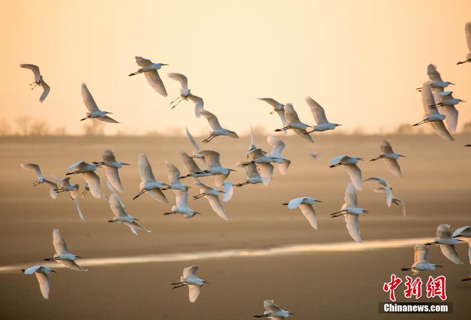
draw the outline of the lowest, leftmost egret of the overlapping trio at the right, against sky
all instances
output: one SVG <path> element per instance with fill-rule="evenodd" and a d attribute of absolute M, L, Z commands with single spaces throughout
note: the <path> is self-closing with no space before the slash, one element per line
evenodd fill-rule
<path fill-rule="evenodd" d="M 443 120 L 445 120 L 445 115 L 438 112 L 437 108 L 430 108 L 430 106 L 435 106 L 434 96 L 430 90 L 430 83 L 424 82 L 422 86 L 422 106 L 425 114 L 423 115 L 423 120 L 413 124 L 412 126 L 420 125 L 423 123 L 430 123 L 431 127 L 434 129 L 441 138 L 447 141 L 454 141 L 450 132 L 448 132 Z"/>

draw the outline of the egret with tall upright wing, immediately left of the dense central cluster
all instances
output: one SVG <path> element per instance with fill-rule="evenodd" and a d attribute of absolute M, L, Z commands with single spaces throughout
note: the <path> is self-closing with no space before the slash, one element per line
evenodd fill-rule
<path fill-rule="evenodd" d="M 164 186 L 170 186 L 164 184 L 164 182 L 155 180 L 154 174 L 152 173 L 152 168 L 150 167 L 149 160 L 147 159 L 145 153 L 141 153 L 139 155 L 138 167 L 139 175 L 141 176 L 142 180 L 139 186 L 139 189 L 141 191 L 137 194 L 137 196 L 133 198 L 133 200 L 142 195 L 143 193 L 147 192 L 155 200 L 158 200 L 162 203 L 169 203 L 164 193 L 162 192 L 162 188 Z"/>

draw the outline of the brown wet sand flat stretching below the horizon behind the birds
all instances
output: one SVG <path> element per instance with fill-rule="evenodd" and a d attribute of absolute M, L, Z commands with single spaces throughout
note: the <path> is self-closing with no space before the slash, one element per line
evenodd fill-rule
<path fill-rule="evenodd" d="M 275 168 L 267 188 L 263 185 L 236 188 L 232 200 L 224 203 L 233 218 L 229 222 L 217 217 L 206 199 L 190 200 L 190 207 L 203 213 L 192 219 L 163 216 L 175 202 L 172 191 L 166 192 L 170 201 L 167 205 L 148 195 L 132 201 L 139 192 L 138 154 L 146 152 L 157 179 L 167 181 L 165 160 L 186 172 L 178 159 L 180 150 L 191 153 L 186 138 L 2 139 L 0 266 L 29 267 L 51 257 L 54 228 L 59 228 L 72 253 L 90 259 L 352 241 L 343 218 L 329 217 L 343 204 L 349 178 L 341 167 L 330 169 L 328 161 L 341 154 L 366 160 L 375 158 L 383 137 L 313 135 L 316 144 L 309 144 L 296 136 L 277 136 L 285 140 L 284 156 L 292 160 L 287 175 L 281 176 Z M 360 207 L 370 211 L 360 217 L 365 244 L 403 238 L 431 240 L 441 223 L 451 224 L 452 231 L 471 223 L 468 157 L 471 148 L 462 147 L 471 142 L 471 136 L 456 138 L 456 142 L 448 143 L 435 135 L 390 136 L 394 150 L 407 156 L 400 160 L 403 179 L 394 177 L 381 160 L 360 163 L 364 178 L 388 179 L 394 195 L 403 199 L 407 208 L 404 218 L 401 207 L 393 204 L 387 208 L 383 195 L 372 191 L 377 187 L 375 184 L 364 184 L 358 197 Z M 207 149 L 221 153 L 222 165 L 238 170 L 229 176 L 231 182 L 238 183 L 245 177 L 235 162 L 244 161 L 243 154 L 249 145 L 249 138 L 218 137 Z M 256 137 L 256 145 L 270 149 L 262 136 Z M 114 149 L 118 160 L 132 164 L 120 172 L 126 190 L 120 197 L 127 211 L 152 233 L 138 232 L 139 236 L 135 236 L 125 225 L 107 223 L 112 217 L 108 203 L 93 199 L 90 194 L 79 199 L 86 219 L 83 222 L 78 218 L 74 202 L 65 193 L 52 200 L 49 188 L 32 187 L 33 172 L 18 166 L 35 162 L 47 177 L 51 173 L 63 177 L 66 168 L 77 161 L 99 161 L 106 148 Z M 309 157 L 311 151 L 320 152 L 318 159 Z M 103 191 L 109 194 L 104 186 L 104 170 L 98 170 Z M 214 186 L 212 177 L 203 181 Z M 81 176 L 72 176 L 72 182 L 80 184 L 83 190 L 85 181 Z M 192 180 L 185 182 L 194 187 Z M 190 195 L 198 193 L 197 188 L 190 189 Z M 318 231 L 309 226 L 300 210 L 281 205 L 300 196 L 323 201 L 316 204 Z M 0 272 L 0 309 L 2 318 L 6 319 L 32 316 L 36 319 L 248 319 L 263 313 L 264 299 L 274 299 L 282 308 L 295 313 L 294 319 L 458 319 L 469 314 L 471 284 L 460 282 L 471 274 L 466 244 L 457 247 L 464 264 L 453 264 L 438 247 L 433 247 L 430 262 L 445 267 L 419 273 L 424 282 L 429 275 L 447 277 L 447 301 L 454 303 L 453 314 L 378 314 L 378 302 L 387 302 L 388 298 L 382 284 L 390 279 L 391 273 L 403 279 L 410 275 L 401 268 L 413 263 L 412 247 L 201 260 L 195 257 L 186 261 L 93 266 L 87 272 L 58 268 L 58 273 L 51 276 L 49 300 L 41 297 L 35 277 L 25 276 L 19 270 Z M 194 304 L 188 301 L 186 288 L 171 290 L 170 286 L 178 282 L 183 267 L 191 264 L 198 264 L 199 276 L 209 281 Z M 398 301 L 406 301 L 403 290 L 400 286 L 396 291 Z M 441 300 L 422 298 L 420 301 Z"/>

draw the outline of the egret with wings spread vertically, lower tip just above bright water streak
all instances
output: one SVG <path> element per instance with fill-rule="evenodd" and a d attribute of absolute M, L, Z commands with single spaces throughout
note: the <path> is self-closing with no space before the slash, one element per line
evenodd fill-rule
<path fill-rule="evenodd" d="M 360 236 L 360 227 L 358 226 L 358 217 L 362 213 L 368 213 L 367 210 L 358 207 L 357 190 L 353 184 L 348 184 L 345 190 L 345 203 L 340 211 L 331 213 L 331 217 L 345 216 L 348 233 L 351 239 L 356 242 L 363 242 Z"/>

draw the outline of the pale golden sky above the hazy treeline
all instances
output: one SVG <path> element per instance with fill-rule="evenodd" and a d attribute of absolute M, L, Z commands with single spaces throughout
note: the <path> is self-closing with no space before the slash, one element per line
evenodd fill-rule
<path fill-rule="evenodd" d="M 30 115 L 81 133 L 86 82 L 98 106 L 122 124 L 106 132 L 209 131 L 193 105 L 171 110 L 179 84 L 168 72 L 185 74 L 191 92 L 205 101 L 221 125 L 246 133 L 249 120 L 270 131 L 280 126 L 271 97 L 293 102 L 301 121 L 315 123 L 304 102 L 311 96 L 337 130 L 391 130 L 422 119 L 420 94 L 426 66 L 437 64 L 454 96 L 471 101 L 471 64 L 464 24 L 471 2 L 463 1 L 13 1 L 0 13 L 2 115 Z M 163 98 L 137 69 L 134 56 L 169 64 L 160 70 L 169 93 Z M 40 66 L 51 92 L 29 90 Z M 462 104 L 459 128 L 471 120 Z"/>

